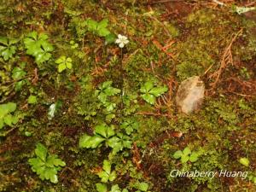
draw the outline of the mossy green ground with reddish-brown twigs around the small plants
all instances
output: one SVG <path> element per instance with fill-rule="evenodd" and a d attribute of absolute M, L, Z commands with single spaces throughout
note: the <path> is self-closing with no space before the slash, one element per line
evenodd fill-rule
<path fill-rule="evenodd" d="M 118 178 L 109 185 L 118 183 L 120 188 L 136 191 L 133 186 L 139 181 L 155 192 L 255 191 L 255 183 L 248 177 L 169 176 L 172 170 L 183 168 L 241 171 L 256 177 L 256 21 L 232 13 L 230 7 L 201 1 L 3 0 L 1 36 L 22 38 L 32 30 L 44 32 L 55 50 L 42 68 L 26 55 L 22 43 L 14 58 L 0 59 L 1 101 L 16 102 L 24 113 L 15 129 L 0 137 L 0 191 L 96 191 L 100 182 L 96 172 L 110 149 L 81 149 L 79 137 L 91 134 L 102 122 L 121 131 L 119 125 L 125 119 L 137 121 L 139 127 L 131 134 L 133 148 L 113 157 Z M 86 32 L 83 21 L 89 17 L 108 19 L 108 29 L 124 34 L 130 43 L 124 49 L 106 45 L 103 38 Z M 224 68 L 212 90 L 212 74 L 241 29 L 231 47 L 233 65 Z M 79 47 L 72 49 L 71 40 Z M 61 55 L 73 59 L 72 70 L 57 73 L 55 59 Z M 11 71 L 21 61 L 26 62 L 28 83 L 15 92 L 9 88 L 14 83 Z M 205 81 L 207 96 L 199 112 L 185 115 L 177 110 L 175 93 L 177 85 L 193 75 Z M 107 80 L 125 91 L 125 102 L 119 96 L 112 98 L 117 104 L 113 119 L 106 118 L 108 113 L 94 95 L 97 86 Z M 148 80 L 169 87 L 166 99 L 155 106 L 140 96 L 140 87 Z M 11 82 L 9 87 L 6 82 Z M 27 104 L 31 94 L 38 97 L 35 105 Z M 49 105 L 56 101 L 61 101 L 61 108 L 49 120 Z M 26 137 L 26 131 L 32 136 Z M 177 137 L 176 131 L 183 136 Z M 39 142 L 67 164 L 59 172 L 57 184 L 41 181 L 28 164 Z M 182 166 L 172 154 L 187 146 L 204 153 L 195 163 Z M 242 166 L 241 157 L 247 157 L 250 166 Z"/>

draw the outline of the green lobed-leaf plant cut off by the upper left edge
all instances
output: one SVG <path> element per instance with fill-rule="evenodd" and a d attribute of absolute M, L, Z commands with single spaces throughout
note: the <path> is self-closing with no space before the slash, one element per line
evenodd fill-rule
<path fill-rule="evenodd" d="M 3 56 L 4 61 L 8 61 L 13 57 L 17 47 L 14 45 L 19 41 L 16 38 L 0 37 L 0 55 Z"/>

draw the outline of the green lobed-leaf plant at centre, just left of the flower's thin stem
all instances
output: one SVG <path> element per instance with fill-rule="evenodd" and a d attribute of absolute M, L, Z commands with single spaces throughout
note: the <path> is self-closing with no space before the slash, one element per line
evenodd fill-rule
<path fill-rule="evenodd" d="M 115 96 L 120 93 L 121 90 L 112 87 L 112 81 L 105 81 L 100 84 L 98 90 L 95 91 L 96 96 L 102 102 L 103 106 L 107 108 L 108 112 L 113 111 L 116 107 L 116 104 L 109 102 L 108 96 Z"/>

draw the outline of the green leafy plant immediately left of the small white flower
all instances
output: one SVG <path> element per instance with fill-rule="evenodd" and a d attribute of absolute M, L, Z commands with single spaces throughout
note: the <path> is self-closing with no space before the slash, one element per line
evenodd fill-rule
<path fill-rule="evenodd" d="M 109 32 L 107 28 L 108 19 L 103 19 L 100 22 L 97 22 L 96 20 L 92 20 L 92 19 L 87 19 L 85 20 L 85 23 L 89 32 L 93 32 L 99 37 L 104 37 L 107 44 L 111 44 L 114 42 L 115 35 Z"/>

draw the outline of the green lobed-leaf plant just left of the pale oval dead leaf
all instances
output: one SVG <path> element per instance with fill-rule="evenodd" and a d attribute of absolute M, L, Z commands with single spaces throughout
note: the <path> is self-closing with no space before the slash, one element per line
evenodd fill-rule
<path fill-rule="evenodd" d="M 140 91 L 143 93 L 141 95 L 143 99 L 151 105 L 154 105 L 156 97 L 163 95 L 167 90 L 168 88 L 166 86 L 154 86 L 153 81 L 147 81 L 140 89 Z"/>

